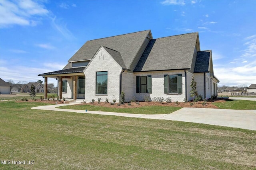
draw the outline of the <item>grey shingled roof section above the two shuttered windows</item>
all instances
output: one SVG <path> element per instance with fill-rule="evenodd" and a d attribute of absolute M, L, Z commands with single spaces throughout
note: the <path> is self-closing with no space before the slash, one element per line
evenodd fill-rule
<path fill-rule="evenodd" d="M 151 40 L 134 72 L 190 69 L 198 32 Z"/>

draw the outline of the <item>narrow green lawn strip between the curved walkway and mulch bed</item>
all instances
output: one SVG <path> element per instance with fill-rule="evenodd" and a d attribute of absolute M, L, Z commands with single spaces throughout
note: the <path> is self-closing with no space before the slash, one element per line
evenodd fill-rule
<path fill-rule="evenodd" d="M 110 108 L 92 105 L 73 105 L 73 106 L 60 106 L 61 109 L 76 109 L 76 110 L 90 110 L 90 111 L 108 111 L 118 113 L 134 113 L 134 114 L 168 114 L 182 107 L 169 107 L 169 106 L 143 106 L 136 108 Z"/>

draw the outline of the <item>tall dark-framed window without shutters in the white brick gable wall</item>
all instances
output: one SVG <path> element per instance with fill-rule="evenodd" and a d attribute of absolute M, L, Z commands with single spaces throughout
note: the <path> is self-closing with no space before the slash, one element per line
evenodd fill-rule
<path fill-rule="evenodd" d="M 96 72 L 96 94 L 108 94 L 108 72 Z"/>

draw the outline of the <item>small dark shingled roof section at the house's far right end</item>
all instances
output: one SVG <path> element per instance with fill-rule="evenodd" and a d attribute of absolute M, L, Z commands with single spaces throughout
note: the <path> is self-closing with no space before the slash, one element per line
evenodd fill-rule
<path fill-rule="evenodd" d="M 211 51 L 198 51 L 194 72 L 208 72 Z"/>

